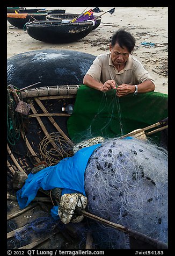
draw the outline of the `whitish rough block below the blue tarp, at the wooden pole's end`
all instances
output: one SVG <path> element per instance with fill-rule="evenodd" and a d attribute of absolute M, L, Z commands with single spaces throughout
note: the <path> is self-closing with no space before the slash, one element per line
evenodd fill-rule
<path fill-rule="evenodd" d="M 76 207 L 85 209 L 87 203 L 87 197 L 82 194 L 74 193 L 62 195 L 59 205 L 59 216 L 61 221 L 64 224 L 68 224 L 69 222 L 81 222 L 84 216 L 76 215 L 75 209 Z"/>

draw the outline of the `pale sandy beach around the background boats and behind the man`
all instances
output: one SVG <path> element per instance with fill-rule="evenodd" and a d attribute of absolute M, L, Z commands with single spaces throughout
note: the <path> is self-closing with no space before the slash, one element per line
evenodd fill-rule
<path fill-rule="evenodd" d="M 26 9 L 35 8 L 27 7 Z M 65 9 L 66 13 L 81 13 L 85 7 L 37 7 Z M 89 7 L 86 10 L 89 10 Z M 114 8 L 100 7 L 104 12 Z M 109 12 L 101 17 L 99 27 L 90 32 L 85 38 L 70 44 L 48 44 L 33 39 L 27 31 L 12 26 L 7 21 L 7 58 L 19 53 L 41 49 L 70 49 L 94 55 L 109 51 L 112 34 L 125 28 L 136 39 L 133 55 L 140 60 L 154 78 L 156 89 L 168 94 L 168 8 L 167 7 L 115 7 L 115 12 Z"/>

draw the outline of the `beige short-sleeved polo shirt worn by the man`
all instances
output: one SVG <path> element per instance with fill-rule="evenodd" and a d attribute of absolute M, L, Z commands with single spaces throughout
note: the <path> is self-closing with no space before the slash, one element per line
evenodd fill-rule
<path fill-rule="evenodd" d="M 94 80 L 101 83 L 105 83 L 107 80 L 114 80 L 118 86 L 122 83 L 140 84 L 145 80 L 151 80 L 155 84 L 141 62 L 133 55 L 129 55 L 125 68 L 118 72 L 118 69 L 113 65 L 111 53 L 100 54 L 93 61 L 86 74 L 91 75 Z"/>

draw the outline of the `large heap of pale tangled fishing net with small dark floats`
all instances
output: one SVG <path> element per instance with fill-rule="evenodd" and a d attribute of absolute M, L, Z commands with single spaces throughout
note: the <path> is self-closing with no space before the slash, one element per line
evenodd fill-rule
<path fill-rule="evenodd" d="M 86 167 L 85 191 L 92 214 L 167 243 L 164 148 L 138 139 L 105 140 Z M 121 231 L 99 223 L 91 229 L 100 248 L 130 248 Z"/>

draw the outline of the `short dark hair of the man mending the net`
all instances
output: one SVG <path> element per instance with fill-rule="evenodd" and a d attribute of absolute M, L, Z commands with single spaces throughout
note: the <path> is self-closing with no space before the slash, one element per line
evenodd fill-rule
<path fill-rule="evenodd" d="M 126 47 L 129 53 L 132 53 L 135 47 L 135 38 L 129 32 L 124 29 L 116 31 L 111 38 L 112 47 L 118 43 L 121 48 Z"/>

